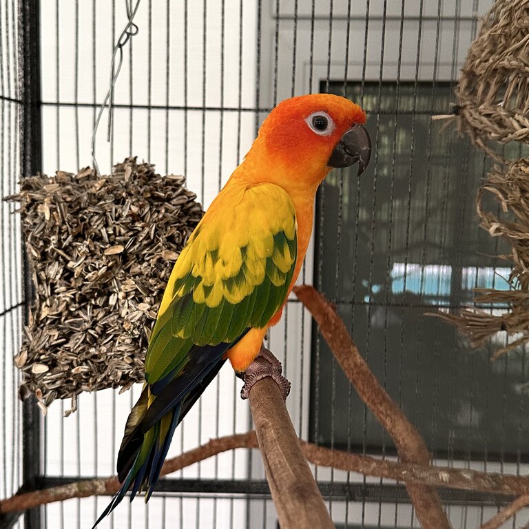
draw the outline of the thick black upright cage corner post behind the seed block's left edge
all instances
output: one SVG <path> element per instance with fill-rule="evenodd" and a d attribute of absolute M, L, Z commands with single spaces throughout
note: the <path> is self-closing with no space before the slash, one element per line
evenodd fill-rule
<path fill-rule="evenodd" d="M 21 0 L 19 3 L 19 65 L 22 74 L 20 85 L 23 110 L 20 122 L 20 158 L 23 176 L 41 170 L 41 72 L 40 72 L 40 5 L 38 0 Z M 33 298 L 31 271 L 28 256 L 22 249 L 24 271 L 24 323 L 28 324 Z M 34 397 L 23 404 L 23 457 L 22 476 L 27 490 L 33 490 L 41 474 L 41 417 Z M 24 515 L 25 529 L 41 527 L 39 508 Z"/>

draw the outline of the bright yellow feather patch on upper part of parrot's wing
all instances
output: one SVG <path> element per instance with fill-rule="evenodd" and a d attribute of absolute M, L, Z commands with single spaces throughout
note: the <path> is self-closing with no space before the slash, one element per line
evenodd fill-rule
<path fill-rule="evenodd" d="M 271 215 L 270 211 L 276 211 L 277 215 Z M 295 255 L 288 246 L 274 245 L 273 236 L 279 231 L 294 240 L 295 209 L 286 191 L 273 184 L 226 187 L 211 204 L 176 261 L 160 304 L 160 314 L 175 295 L 183 294 L 184 287 L 180 286 L 178 291 L 174 287 L 189 273 L 202 278 L 194 289 L 193 300 L 207 307 L 216 307 L 222 298 L 238 303 L 249 295 L 264 280 L 269 257 L 280 272 L 287 273 Z M 242 249 L 246 252 L 244 262 Z M 247 282 L 229 290 L 226 280 L 238 276 L 241 269 Z"/>

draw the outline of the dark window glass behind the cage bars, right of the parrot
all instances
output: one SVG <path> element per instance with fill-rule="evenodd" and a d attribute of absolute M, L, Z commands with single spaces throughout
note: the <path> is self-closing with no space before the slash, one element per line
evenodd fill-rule
<path fill-rule="evenodd" d="M 331 92 L 342 89 L 331 83 Z M 453 326 L 428 315 L 472 305 L 475 287 L 509 288 L 510 262 L 496 257 L 508 247 L 479 227 L 475 209 L 490 162 L 454 123 L 431 120 L 448 112 L 450 85 L 347 90 L 368 112 L 371 164 L 360 178 L 356 167 L 333 171 L 320 189 L 315 284 L 437 455 L 528 453 L 526 357 L 492 362 L 490 350 L 470 348 Z M 497 210 L 493 200 L 488 207 Z M 391 448 L 316 334 L 312 365 L 312 439 Z"/>

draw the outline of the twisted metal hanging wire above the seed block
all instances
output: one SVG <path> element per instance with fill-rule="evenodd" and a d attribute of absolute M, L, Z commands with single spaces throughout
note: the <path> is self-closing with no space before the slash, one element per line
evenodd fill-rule
<path fill-rule="evenodd" d="M 112 138 L 112 125 L 114 123 L 114 87 L 116 85 L 116 81 L 118 80 L 119 72 L 121 72 L 121 66 L 123 65 L 123 46 L 125 46 L 125 44 L 131 39 L 131 37 L 134 37 L 134 35 L 138 34 L 138 26 L 134 23 L 134 16 L 136 15 L 136 11 L 140 6 L 140 0 L 136 0 L 134 8 L 132 7 L 132 5 L 132 0 L 125 0 L 128 22 L 125 26 L 125 29 L 121 33 L 118 42 L 116 43 L 114 52 L 112 53 L 112 62 L 110 63 L 110 87 L 108 89 L 107 95 L 105 96 L 105 100 L 103 101 L 103 105 L 101 105 L 101 108 L 99 109 L 96 123 L 94 123 L 94 132 L 92 134 L 92 165 L 94 165 L 94 169 L 96 171 L 97 176 L 100 174 L 99 166 L 97 165 L 96 160 L 96 134 L 99 122 L 101 121 L 101 116 L 103 116 L 105 107 L 108 105 L 107 141 L 110 142 L 110 139 Z M 116 68 L 116 56 L 118 53 L 118 67 L 117 70 L 114 72 L 114 69 Z"/>

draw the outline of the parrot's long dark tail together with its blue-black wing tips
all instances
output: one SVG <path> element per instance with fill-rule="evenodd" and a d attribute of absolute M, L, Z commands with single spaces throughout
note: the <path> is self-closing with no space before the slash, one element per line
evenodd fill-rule
<path fill-rule="evenodd" d="M 202 371 L 200 379 L 195 379 L 191 391 L 186 392 L 183 397 L 173 399 L 170 404 L 161 406 L 163 415 L 156 413 L 154 420 L 152 419 L 152 412 L 156 411 L 158 406 L 153 406 L 153 404 L 158 398 L 152 399 L 149 385 L 145 384 L 141 397 L 132 408 L 127 419 L 125 435 L 118 453 L 118 479 L 122 486 L 94 523 L 92 529 L 96 528 L 98 523 L 118 506 L 128 490 L 130 490 L 130 501 L 138 492 L 143 491 L 145 491 L 145 501 L 151 497 L 156 481 L 160 477 L 163 461 L 167 456 L 167 450 L 169 450 L 176 426 L 198 400 L 198 397 L 202 395 L 211 380 L 216 377 L 224 362 L 225 360 L 220 358 L 216 362 L 212 362 L 209 369 Z M 174 390 L 174 388 L 167 389 Z M 167 402 L 168 399 L 164 397 L 165 395 L 160 395 L 156 404 Z M 148 414 L 147 411 L 149 411 Z M 156 417 L 156 415 L 158 416 Z M 145 432 L 146 427 L 149 429 Z"/>

